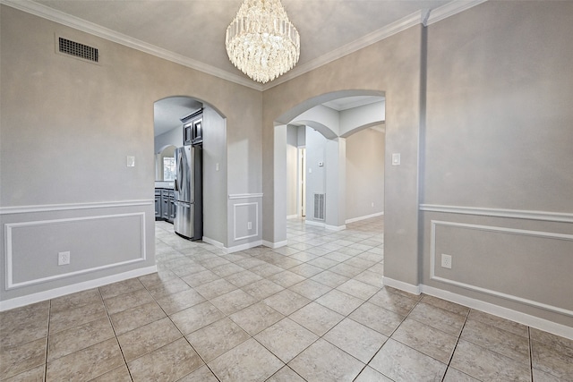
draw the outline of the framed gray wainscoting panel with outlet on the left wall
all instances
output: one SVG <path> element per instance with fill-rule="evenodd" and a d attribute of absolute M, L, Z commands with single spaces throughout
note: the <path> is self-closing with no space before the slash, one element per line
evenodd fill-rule
<path fill-rule="evenodd" d="M 8 223 L 4 242 L 9 290 L 145 261 L 145 213 Z M 64 251 L 70 264 L 58 266 Z"/>

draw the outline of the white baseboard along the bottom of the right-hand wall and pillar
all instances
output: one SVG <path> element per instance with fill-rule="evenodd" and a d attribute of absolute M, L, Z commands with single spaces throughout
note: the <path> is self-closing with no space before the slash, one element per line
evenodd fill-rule
<path fill-rule="evenodd" d="M 492 304 L 491 302 L 477 300 L 458 293 L 444 291 L 443 289 L 424 284 L 407 284 L 402 281 L 391 279 L 389 277 L 382 277 L 382 284 L 397 288 L 407 293 L 425 293 L 434 297 L 438 297 L 442 300 L 458 303 L 470 309 L 481 310 L 494 316 L 506 318 L 519 324 L 526 325 L 527 327 L 535 327 L 536 329 L 543 330 L 544 332 L 552 333 L 553 335 L 560 335 L 561 337 L 573 340 L 573 327 L 558 324 L 548 319 L 535 317 L 517 310 L 504 308 L 499 305 Z"/>

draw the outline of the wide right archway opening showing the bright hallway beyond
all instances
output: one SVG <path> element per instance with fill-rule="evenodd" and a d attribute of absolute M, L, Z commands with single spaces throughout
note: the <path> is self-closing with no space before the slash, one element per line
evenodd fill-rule
<path fill-rule="evenodd" d="M 311 106 L 276 127 L 286 129 L 278 134 L 286 136 L 286 218 L 338 231 L 383 215 L 385 99 L 380 92 L 355 94 Z"/>

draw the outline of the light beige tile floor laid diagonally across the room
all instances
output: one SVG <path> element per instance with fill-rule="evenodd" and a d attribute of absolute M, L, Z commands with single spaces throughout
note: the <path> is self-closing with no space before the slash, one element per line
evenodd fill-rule
<path fill-rule="evenodd" d="M 573 341 L 381 287 L 383 220 L 231 254 L 156 225 L 158 273 L 0 314 L 7 381 L 571 381 Z"/>

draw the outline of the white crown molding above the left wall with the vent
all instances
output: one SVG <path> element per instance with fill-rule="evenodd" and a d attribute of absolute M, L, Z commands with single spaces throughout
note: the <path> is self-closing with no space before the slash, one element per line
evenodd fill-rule
<path fill-rule="evenodd" d="M 243 85 L 248 88 L 260 91 L 262 90 L 261 84 L 246 79 L 242 76 L 224 71 L 222 69 L 218 69 L 208 64 L 203 64 L 197 60 L 185 57 L 184 55 L 176 54 L 161 47 L 156 47 L 154 45 L 141 41 L 137 38 L 131 38 L 127 35 L 124 35 L 123 33 L 116 32 L 115 30 L 109 30 L 107 28 L 99 26 L 98 24 L 95 24 L 90 21 L 85 21 L 83 19 L 80 19 L 79 17 L 71 16 L 67 13 L 56 11 L 53 8 L 50 8 L 43 4 L 35 3 L 31 0 L 0 0 L 0 4 L 11 6 L 20 11 L 34 14 L 38 17 L 47 19 L 49 21 L 55 21 L 59 24 L 63 24 L 75 30 L 81 30 L 83 32 L 90 33 L 91 35 L 97 36 L 99 38 L 105 38 L 109 41 L 121 44 L 125 47 L 132 47 L 133 49 L 139 50 L 141 52 L 150 55 L 155 55 L 159 58 L 166 59 L 167 61 L 171 61 L 175 64 L 181 64 L 186 67 L 210 74 L 223 80 L 235 82 L 239 85 Z"/>

